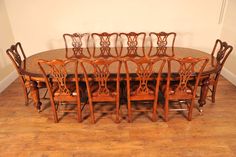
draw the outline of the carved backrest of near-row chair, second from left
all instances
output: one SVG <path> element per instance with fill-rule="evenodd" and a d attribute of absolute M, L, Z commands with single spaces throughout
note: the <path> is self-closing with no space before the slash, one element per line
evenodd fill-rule
<path fill-rule="evenodd" d="M 121 61 L 117 59 L 83 59 L 79 63 L 84 73 L 90 99 L 92 93 L 97 93 L 98 97 L 111 96 L 109 81 L 116 82 L 116 90 L 119 93 Z"/>

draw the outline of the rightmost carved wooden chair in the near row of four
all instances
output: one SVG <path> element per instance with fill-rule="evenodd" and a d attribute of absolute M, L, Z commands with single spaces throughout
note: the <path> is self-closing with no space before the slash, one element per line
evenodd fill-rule
<path fill-rule="evenodd" d="M 191 121 L 197 87 L 208 61 L 207 58 L 192 57 L 168 59 L 167 83 L 161 88 L 165 97 L 165 121 L 168 121 L 169 111 L 187 111 L 187 119 Z M 179 107 L 170 109 L 171 102 Z M 184 104 L 186 108 L 183 108 Z"/>

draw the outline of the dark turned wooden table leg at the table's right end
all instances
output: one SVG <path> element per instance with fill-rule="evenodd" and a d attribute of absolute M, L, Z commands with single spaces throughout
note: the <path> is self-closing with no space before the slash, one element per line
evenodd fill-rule
<path fill-rule="evenodd" d="M 201 107 L 203 107 L 206 104 L 207 93 L 208 93 L 208 78 L 202 80 L 201 93 L 200 93 L 200 98 L 198 100 L 200 112 L 202 112 Z"/>

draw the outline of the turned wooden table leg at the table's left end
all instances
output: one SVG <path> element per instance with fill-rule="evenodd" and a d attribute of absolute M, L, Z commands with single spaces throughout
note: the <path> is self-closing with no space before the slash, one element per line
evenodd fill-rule
<path fill-rule="evenodd" d="M 38 83 L 36 81 L 30 81 L 30 93 L 34 101 L 34 106 L 38 112 L 41 111 L 41 102 L 39 97 Z"/>

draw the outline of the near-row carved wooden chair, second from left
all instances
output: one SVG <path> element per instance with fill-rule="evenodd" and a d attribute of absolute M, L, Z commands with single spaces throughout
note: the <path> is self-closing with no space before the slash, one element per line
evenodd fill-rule
<path fill-rule="evenodd" d="M 117 59 L 83 59 L 79 63 L 86 81 L 92 123 L 96 121 L 95 103 L 108 102 L 115 103 L 115 122 L 119 122 L 121 61 Z"/>

